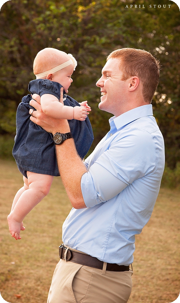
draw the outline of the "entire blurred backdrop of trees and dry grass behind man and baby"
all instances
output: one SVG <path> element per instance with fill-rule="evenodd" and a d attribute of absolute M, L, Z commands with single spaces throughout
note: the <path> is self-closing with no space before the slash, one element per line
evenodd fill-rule
<path fill-rule="evenodd" d="M 180 290 L 180 12 L 169 0 L 11 0 L 2 6 L 2 297 L 11 303 L 47 302 L 59 261 L 62 224 L 72 207 L 61 179 L 56 177 L 49 195 L 24 218 L 26 229 L 21 233 L 21 241 L 15 241 L 8 231 L 7 215 L 15 193 L 23 186 L 22 175 L 12 157 L 16 109 L 21 98 L 28 94 L 29 81 L 35 79 L 34 58 L 45 47 L 71 53 L 78 61 L 69 95 L 78 102 L 88 100 L 92 108 L 89 118 L 95 139 L 90 151 L 109 131 L 111 114 L 98 109 L 101 95 L 95 86 L 108 54 L 117 48 L 133 47 L 150 51 L 160 60 L 160 80 L 152 104 L 165 140 L 166 167 L 153 214 L 136 236 L 133 290 L 128 303 L 174 301 Z"/>

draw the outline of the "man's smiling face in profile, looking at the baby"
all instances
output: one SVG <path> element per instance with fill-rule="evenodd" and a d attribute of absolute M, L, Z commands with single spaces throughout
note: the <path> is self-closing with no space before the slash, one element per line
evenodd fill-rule
<path fill-rule="evenodd" d="M 102 69 L 102 77 L 96 85 L 101 88 L 101 102 L 99 108 L 110 112 L 115 116 L 119 115 L 121 105 L 126 100 L 127 81 L 122 81 L 122 72 L 119 69 L 120 59 L 109 59 Z"/>

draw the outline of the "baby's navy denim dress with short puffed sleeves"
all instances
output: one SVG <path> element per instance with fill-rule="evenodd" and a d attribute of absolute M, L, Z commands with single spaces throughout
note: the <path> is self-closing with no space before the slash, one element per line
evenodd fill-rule
<path fill-rule="evenodd" d="M 60 85 L 47 79 L 30 81 L 28 90 L 31 94 L 51 94 L 60 99 Z M 65 91 L 63 92 L 65 93 Z M 63 95 L 64 105 L 80 106 L 73 98 Z M 59 176 L 56 161 L 53 135 L 30 120 L 29 110 L 34 109 L 30 104 L 31 95 L 24 96 L 16 114 L 16 136 L 13 147 L 13 157 L 19 171 L 27 178 L 27 171 L 38 174 Z M 69 127 L 79 156 L 83 159 L 91 147 L 94 139 L 91 123 L 87 117 L 85 121 L 68 120 Z M 68 151 L 67 151 L 68 152 Z"/>

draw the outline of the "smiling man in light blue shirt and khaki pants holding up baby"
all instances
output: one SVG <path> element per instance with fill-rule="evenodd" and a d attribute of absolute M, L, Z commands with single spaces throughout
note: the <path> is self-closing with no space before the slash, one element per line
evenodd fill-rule
<path fill-rule="evenodd" d="M 151 105 L 158 81 L 159 63 L 149 52 L 112 52 L 96 83 L 99 108 L 114 115 L 110 131 L 84 163 L 73 139 L 56 145 L 73 208 L 63 224 L 65 247 L 48 303 L 128 301 L 135 234 L 151 216 L 164 170 L 164 142 Z M 47 118 L 38 103 L 31 105 L 37 109 L 31 120 L 55 138 L 70 131 L 67 120 Z"/>

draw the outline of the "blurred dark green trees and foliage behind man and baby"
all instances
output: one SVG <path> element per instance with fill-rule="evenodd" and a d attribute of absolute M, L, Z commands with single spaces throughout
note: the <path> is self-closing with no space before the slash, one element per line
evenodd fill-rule
<path fill-rule="evenodd" d="M 79 102 L 88 100 L 92 107 L 94 147 L 109 130 L 111 117 L 98 109 L 100 90 L 95 87 L 106 56 L 117 48 L 142 48 L 162 66 L 153 109 L 165 139 L 166 163 L 174 169 L 180 161 L 180 12 L 173 1 L 155 3 L 162 8 L 150 8 L 150 0 L 6 2 L 0 12 L 0 133 L 14 132 L 15 108 L 35 78 L 34 57 L 53 47 L 72 53 L 78 61 L 69 95 Z"/>

